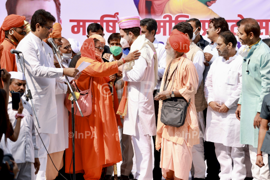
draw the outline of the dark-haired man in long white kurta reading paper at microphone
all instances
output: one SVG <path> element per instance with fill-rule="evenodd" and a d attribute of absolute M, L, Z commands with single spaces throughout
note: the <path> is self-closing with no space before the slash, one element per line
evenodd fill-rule
<path fill-rule="evenodd" d="M 40 147 L 38 158 L 40 168 L 36 179 L 45 179 L 47 152 L 50 134 L 57 133 L 57 107 L 55 94 L 66 93 L 67 86 L 57 82 L 57 78 L 67 75 L 75 77 L 75 68 L 55 68 L 51 47 L 42 39 L 48 37 L 53 30 L 55 18 L 43 9 L 36 10 L 31 18 L 31 31 L 18 44 L 16 50 L 20 54 L 24 66 L 25 77 L 32 93 L 33 103 L 40 123 L 37 145 Z M 18 71 L 21 72 L 19 59 L 16 56 Z M 38 127 L 37 121 L 34 120 Z M 45 149 L 46 148 L 46 149 Z"/>

